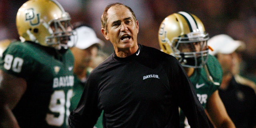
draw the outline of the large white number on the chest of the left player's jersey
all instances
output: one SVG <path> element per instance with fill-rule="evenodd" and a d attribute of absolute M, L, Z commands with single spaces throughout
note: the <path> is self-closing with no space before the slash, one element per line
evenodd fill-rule
<path fill-rule="evenodd" d="M 49 109 L 55 114 L 47 114 L 46 122 L 52 126 L 62 126 L 64 120 L 68 121 L 70 115 L 70 99 L 72 97 L 73 90 L 68 90 L 67 96 L 63 90 L 55 91 L 52 94 Z M 66 98 L 65 98 L 66 97 Z M 66 99 L 66 100 L 65 100 Z M 66 109 L 65 109 L 66 108 Z M 66 113 L 66 119 L 65 119 Z M 56 116 L 58 115 L 58 116 Z"/>

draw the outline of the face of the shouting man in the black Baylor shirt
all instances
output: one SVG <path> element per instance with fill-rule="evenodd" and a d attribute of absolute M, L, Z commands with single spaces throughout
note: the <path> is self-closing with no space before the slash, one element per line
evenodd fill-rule
<path fill-rule="evenodd" d="M 125 6 L 112 6 L 108 10 L 107 30 L 103 34 L 115 49 L 132 48 L 137 45 L 138 21 Z"/>

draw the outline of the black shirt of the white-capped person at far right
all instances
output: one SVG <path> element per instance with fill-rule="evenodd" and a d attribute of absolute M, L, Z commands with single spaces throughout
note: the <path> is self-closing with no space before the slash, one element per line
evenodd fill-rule
<path fill-rule="evenodd" d="M 220 89 L 219 95 L 236 128 L 255 128 L 256 95 L 250 86 L 232 76 L 228 88 Z"/>

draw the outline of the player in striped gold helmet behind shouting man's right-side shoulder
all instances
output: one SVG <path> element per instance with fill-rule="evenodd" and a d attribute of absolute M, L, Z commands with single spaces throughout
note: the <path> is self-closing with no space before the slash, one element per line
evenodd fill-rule
<path fill-rule="evenodd" d="M 187 12 L 171 14 L 162 21 L 158 39 L 161 50 L 184 67 L 212 123 L 217 128 L 235 128 L 218 94 L 222 69 L 218 60 L 208 55 L 209 36 L 201 20 Z M 182 110 L 180 127 L 190 128 Z"/>

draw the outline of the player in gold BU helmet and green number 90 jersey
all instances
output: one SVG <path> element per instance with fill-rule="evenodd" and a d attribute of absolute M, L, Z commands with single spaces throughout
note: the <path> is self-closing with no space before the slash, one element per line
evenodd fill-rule
<path fill-rule="evenodd" d="M 29 0 L 16 26 L 21 41 L 0 63 L 0 127 L 66 128 L 74 85 L 70 16 L 55 0 Z"/>

